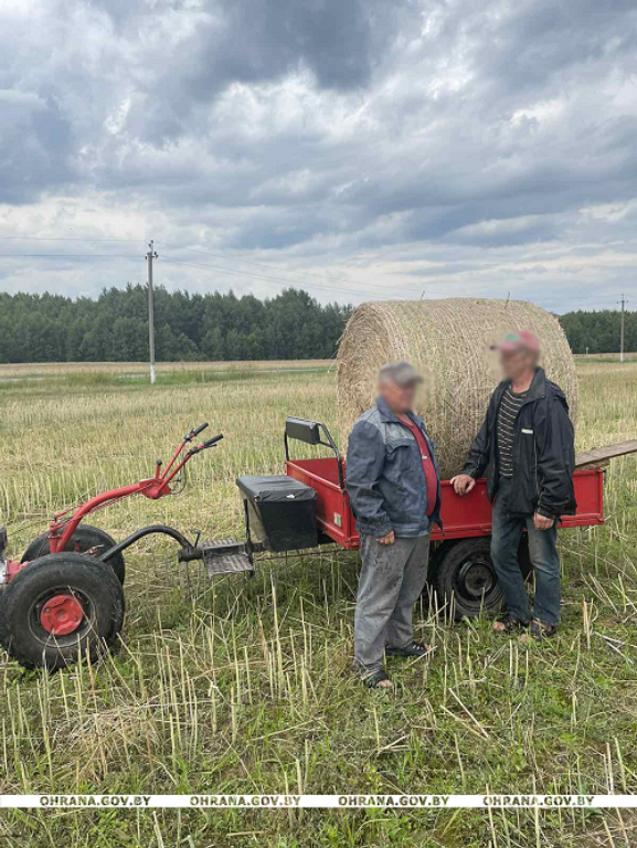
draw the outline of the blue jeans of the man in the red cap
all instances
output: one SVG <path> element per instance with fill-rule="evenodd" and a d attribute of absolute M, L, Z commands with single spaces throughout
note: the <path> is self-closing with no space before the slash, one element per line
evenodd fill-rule
<path fill-rule="evenodd" d="M 533 516 L 511 515 L 509 494 L 514 481 L 500 478 L 492 516 L 491 559 L 502 586 L 509 614 L 518 621 L 531 618 L 527 586 L 518 563 L 522 532 L 529 534 L 529 553 L 535 573 L 533 618 L 556 625 L 560 621 L 561 585 L 558 556 L 558 522 L 549 530 L 535 530 Z"/>

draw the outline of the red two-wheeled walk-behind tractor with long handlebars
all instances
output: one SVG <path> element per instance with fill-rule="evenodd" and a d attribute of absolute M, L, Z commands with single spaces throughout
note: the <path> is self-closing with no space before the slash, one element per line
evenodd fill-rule
<path fill-rule="evenodd" d="M 104 530 L 84 519 L 97 510 L 134 495 L 159 500 L 173 494 L 193 456 L 223 438 L 187 446 L 208 427 L 192 428 L 163 468 L 158 459 L 155 476 L 104 491 L 81 506 L 57 512 L 43 536 L 34 539 L 20 562 L 6 559 L 7 531 L 0 531 L 0 643 L 26 667 L 60 668 L 83 654 L 97 656 L 112 645 L 124 623 L 123 551 L 139 539 L 160 533 L 174 539 L 183 560 L 203 559 L 202 549 L 179 530 L 150 524 L 116 543 Z M 185 453 L 184 453 L 185 451 Z M 185 483 L 184 483 L 185 485 Z"/>

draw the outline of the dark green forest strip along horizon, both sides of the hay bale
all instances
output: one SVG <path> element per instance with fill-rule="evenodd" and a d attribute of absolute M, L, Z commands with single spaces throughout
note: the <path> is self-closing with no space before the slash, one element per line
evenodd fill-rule
<path fill-rule="evenodd" d="M 179 360 L 329 359 L 351 311 L 289 288 L 252 295 L 155 294 L 156 357 Z M 148 359 L 146 287 L 105 289 L 96 300 L 0 294 L 0 362 L 136 362 Z M 560 316 L 574 353 L 619 349 L 619 312 Z M 637 312 L 626 314 L 627 351 L 637 351 Z"/>

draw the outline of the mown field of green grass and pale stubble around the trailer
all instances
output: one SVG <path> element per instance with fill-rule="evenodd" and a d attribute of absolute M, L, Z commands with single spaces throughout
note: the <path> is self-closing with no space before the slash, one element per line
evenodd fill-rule
<path fill-rule="evenodd" d="M 309 365 L 309 370 L 294 369 Z M 637 362 L 580 360 L 578 448 L 635 437 Z M 283 421 L 336 431 L 327 363 L 0 368 L 0 523 L 21 555 L 54 510 L 141 479 L 193 424 L 225 439 L 179 498 L 121 502 L 116 538 L 153 521 L 236 536 L 240 474 L 282 468 Z M 40 379 L 42 378 L 42 379 Z M 394 696 L 350 674 L 358 558 L 203 579 L 174 548 L 127 555 L 119 650 L 46 676 L 0 657 L 0 793 L 637 792 L 637 463 L 615 462 L 604 528 L 565 531 L 563 626 L 525 647 L 488 621 L 448 626 L 423 597 L 431 662 L 392 662 Z M 21 848 L 637 844 L 629 810 L 0 812 Z"/>

